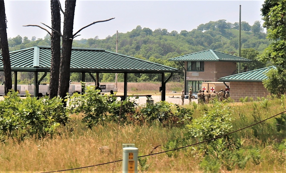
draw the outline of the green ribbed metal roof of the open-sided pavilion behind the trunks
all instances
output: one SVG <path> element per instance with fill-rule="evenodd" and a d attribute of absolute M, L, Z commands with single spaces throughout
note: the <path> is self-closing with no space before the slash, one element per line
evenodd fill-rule
<path fill-rule="evenodd" d="M 2 55 L 0 55 L 0 58 Z M 51 48 L 35 46 L 10 52 L 12 71 L 50 71 Z M 0 62 L 0 71 L 3 63 Z M 129 57 L 104 49 L 72 48 L 71 72 L 179 73 L 173 67 Z"/>

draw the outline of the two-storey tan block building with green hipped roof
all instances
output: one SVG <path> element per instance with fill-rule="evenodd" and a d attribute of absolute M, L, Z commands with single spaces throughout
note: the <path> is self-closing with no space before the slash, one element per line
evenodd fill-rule
<path fill-rule="evenodd" d="M 191 86 L 193 92 L 197 92 L 202 82 L 217 82 L 221 77 L 236 74 L 236 63 L 251 60 L 207 50 L 171 58 L 169 61 L 179 61 L 180 64 L 183 62 L 181 65 L 185 69 L 185 92 L 188 92 Z"/>

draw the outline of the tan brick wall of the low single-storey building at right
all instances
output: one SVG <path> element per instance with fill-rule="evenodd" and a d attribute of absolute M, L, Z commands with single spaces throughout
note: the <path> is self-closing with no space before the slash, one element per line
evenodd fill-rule
<path fill-rule="evenodd" d="M 264 88 L 262 82 L 230 82 L 230 98 L 238 102 L 240 98 L 246 96 L 253 97 L 266 97 L 269 92 Z"/>

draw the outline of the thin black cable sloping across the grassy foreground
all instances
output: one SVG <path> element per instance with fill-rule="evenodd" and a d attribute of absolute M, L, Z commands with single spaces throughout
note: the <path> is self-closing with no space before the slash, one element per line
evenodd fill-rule
<path fill-rule="evenodd" d="M 201 142 L 198 142 L 198 143 L 195 143 L 195 144 L 191 144 L 191 145 L 188 145 L 188 146 L 183 146 L 183 147 L 180 147 L 180 148 L 175 148 L 175 149 L 168 150 L 168 151 L 162 151 L 162 152 L 157 152 L 157 153 L 153 153 L 153 154 L 147 154 L 147 155 L 144 155 L 144 156 L 138 156 L 138 158 L 139 158 L 139 157 L 152 156 L 152 155 L 156 155 L 156 154 L 161 154 L 161 153 L 165 153 L 165 152 L 169 152 L 169 151 L 175 151 L 175 150 L 179 150 L 179 149 L 182 149 L 182 148 L 186 148 L 186 147 L 194 146 L 194 145 L 201 144 L 201 143 L 204 143 L 204 142 L 208 142 L 208 141 L 211 141 L 211 140 L 214 140 L 214 139 L 218 139 L 218 138 L 221 138 L 221 137 L 223 137 L 223 136 L 227 136 L 227 135 L 229 135 L 229 134 L 238 132 L 238 131 L 240 131 L 240 130 L 244 130 L 244 129 L 246 129 L 246 128 L 249 128 L 249 127 L 251 127 L 251 126 L 254 126 L 254 125 L 256 125 L 256 124 L 259 124 L 259 123 L 261 123 L 261 122 L 264 122 L 264 121 L 266 121 L 266 120 L 269 120 L 269 119 L 271 119 L 271 118 L 273 118 L 273 117 L 275 117 L 275 116 L 278 116 L 278 115 L 280 115 L 280 114 L 283 114 L 283 113 L 285 113 L 285 112 L 286 112 L 286 110 L 285 110 L 284 112 L 280 112 L 279 114 L 276 114 L 276 115 L 273 115 L 273 116 L 271 116 L 271 117 L 269 117 L 269 118 L 266 118 L 265 120 L 261 120 L 261 121 L 259 121 L 259 122 L 256 122 L 256 123 L 254 123 L 254 124 L 251 124 L 251 125 L 246 126 L 246 127 L 244 127 L 244 128 L 240 128 L 240 129 L 235 130 L 235 131 L 233 131 L 233 132 L 229 132 L 229 133 L 227 133 L 227 134 L 223 134 L 223 135 L 221 135 L 221 136 L 217 136 L 217 137 L 212 138 L 212 139 L 204 140 L 204 141 L 201 141 Z M 40 172 L 40 173 L 62 172 L 62 171 L 76 170 L 76 169 L 82 169 L 82 168 L 90 168 L 90 167 L 93 167 L 93 166 L 100 166 L 100 165 L 104 165 L 104 164 L 109 164 L 109 163 L 114 163 L 114 162 L 121 162 L 121 161 L 122 161 L 122 160 L 116 160 L 116 161 L 112 161 L 112 162 L 106 162 L 106 163 L 101 163 L 101 164 L 91 165 L 91 166 L 84 166 L 84 167 L 80 167 L 80 168 L 71 168 L 71 169 L 65 169 L 65 170 L 56 170 L 56 171 L 48 171 L 48 172 Z"/>

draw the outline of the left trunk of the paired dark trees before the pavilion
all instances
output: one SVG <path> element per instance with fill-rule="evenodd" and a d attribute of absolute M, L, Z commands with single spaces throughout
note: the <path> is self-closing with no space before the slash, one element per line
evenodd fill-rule
<path fill-rule="evenodd" d="M 60 59 L 61 59 L 61 16 L 58 0 L 51 0 L 52 33 L 51 33 L 51 69 L 50 69 L 50 98 L 58 95 Z M 56 31 L 58 32 L 56 32 Z"/>

